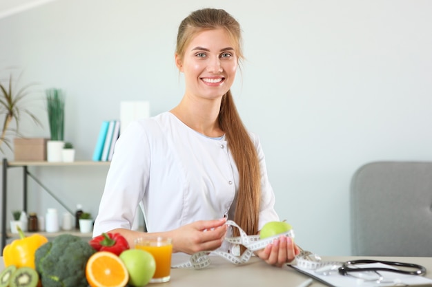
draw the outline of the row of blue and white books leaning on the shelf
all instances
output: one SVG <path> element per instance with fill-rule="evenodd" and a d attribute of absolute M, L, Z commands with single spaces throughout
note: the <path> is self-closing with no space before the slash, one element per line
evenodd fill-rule
<path fill-rule="evenodd" d="M 104 120 L 99 131 L 92 160 L 95 162 L 111 161 L 115 142 L 120 134 L 119 120 Z"/>

